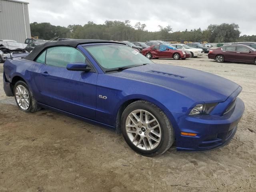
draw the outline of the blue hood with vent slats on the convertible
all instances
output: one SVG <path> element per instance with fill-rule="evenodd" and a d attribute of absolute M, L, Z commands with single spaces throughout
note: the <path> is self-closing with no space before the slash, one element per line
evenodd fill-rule
<path fill-rule="evenodd" d="M 239 87 L 238 84 L 214 74 L 166 64 L 147 64 L 111 75 L 155 84 L 195 102 L 224 102 Z"/>

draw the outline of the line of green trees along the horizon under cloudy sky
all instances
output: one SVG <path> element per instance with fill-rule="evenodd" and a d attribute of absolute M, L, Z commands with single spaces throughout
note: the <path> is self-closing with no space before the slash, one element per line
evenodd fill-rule
<path fill-rule="evenodd" d="M 219 42 L 238 42 L 250 41 L 256 42 L 256 35 L 240 36 L 238 24 L 210 24 L 205 30 L 201 28 L 193 30 L 184 30 L 173 32 L 170 25 L 158 26 L 158 31 L 150 32 L 145 30 L 146 24 L 140 22 L 134 26 L 130 20 L 106 20 L 104 24 L 95 24 L 89 21 L 84 26 L 69 25 L 68 27 L 54 26 L 50 23 L 31 23 L 31 35 L 39 38 L 50 40 L 58 36 L 59 38 L 74 39 L 102 39 L 102 40 L 128 40 L 132 42 L 146 42 L 149 40 L 166 40 L 166 41 L 207 41 L 211 43 Z M 156 29 L 157 30 L 157 29 Z"/>

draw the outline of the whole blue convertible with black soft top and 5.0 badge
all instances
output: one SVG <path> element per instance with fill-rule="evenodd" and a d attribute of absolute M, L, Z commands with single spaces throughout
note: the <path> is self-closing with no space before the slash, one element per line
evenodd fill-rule
<path fill-rule="evenodd" d="M 20 110 L 50 108 L 122 133 L 139 154 L 224 146 L 244 112 L 225 78 L 154 64 L 120 42 L 67 40 L 4 63 L 4 90 Z"/>

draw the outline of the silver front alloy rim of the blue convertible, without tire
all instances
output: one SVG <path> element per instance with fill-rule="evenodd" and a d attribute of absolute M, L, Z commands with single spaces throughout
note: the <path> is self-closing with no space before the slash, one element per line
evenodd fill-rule
<path fill-rule="evenodd" d="M 126 118 L 126 134 L 141 150 L 153 150 L 161 141 L 161 127 L 154 115 L 146 110 L 134 110 Z"/>

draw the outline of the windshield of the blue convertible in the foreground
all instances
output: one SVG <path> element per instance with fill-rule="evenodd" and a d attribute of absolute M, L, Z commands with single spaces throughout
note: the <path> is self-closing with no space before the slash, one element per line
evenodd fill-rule
<path fill-rule="evenodd" d="M 138 51 L 124 45 L 106 44 L 84 48 L 94 57 L 104 72 L 153 63 Z"/>

